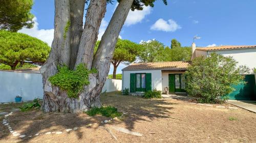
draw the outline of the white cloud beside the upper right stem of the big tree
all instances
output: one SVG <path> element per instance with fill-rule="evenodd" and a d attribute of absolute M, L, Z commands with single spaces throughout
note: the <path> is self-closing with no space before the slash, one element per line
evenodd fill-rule
<path fill-rule="evenodd" d="M 150 14 L 152 11 L 152 8 L 150 6 L 146 7 L 143 6 L 143 10 L 130 10 L 124 25 L 130 26 L 136 23 L 141 22 L 146 15 Z"/>

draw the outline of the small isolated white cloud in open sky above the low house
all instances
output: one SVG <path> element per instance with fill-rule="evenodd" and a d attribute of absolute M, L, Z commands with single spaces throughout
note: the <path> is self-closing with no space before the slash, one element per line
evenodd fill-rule
<path fill-rule="evenodd" d="M 173 19 L 165 21 L 162 18 L 160 18 L 151 26 L 150 29 L 155 31 L 175 32 L 180 28 L 181 26 L 178 25 L 176 21 L 174 21 Z"/>

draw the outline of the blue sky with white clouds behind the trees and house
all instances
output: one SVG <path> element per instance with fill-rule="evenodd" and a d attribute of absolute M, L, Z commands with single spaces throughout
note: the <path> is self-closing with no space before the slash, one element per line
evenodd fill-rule
<path fill-rule="evenodd" d="M 122 39 L 139 43 L 156 39 L 169 46 L 173 38 L 182 46 L 190 46 L 194 36 L 197 46 L 208 45 L 255 45 L 256 44 L 256 1 L 238 0 L 161 0 L 155 7 L 143 11 L 130 12 L 121 30 Z M 102 21 L 100 35 L 111 19 L 116 4 L 109 4 Z M 32 13 L 36 25 L 19 32 L 37 37 L 51 43 L 53 38 L 54 0 L 34 0 Z M 99 37 L 100 37 L 99 35 Z M 117 72 L 125 65 L 120 65 Z M 113 69 L 111 68 L 110 73 Z"/>

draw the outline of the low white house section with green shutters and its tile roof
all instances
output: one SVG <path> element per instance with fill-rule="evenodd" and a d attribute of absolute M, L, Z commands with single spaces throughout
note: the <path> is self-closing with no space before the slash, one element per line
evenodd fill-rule
<path fill-rule="evenodd" d="M 137 63 L 122 69 L 122 89 L 133 92 L 158 90 L 185 94 L 183 73 L 190 62 Z"/>

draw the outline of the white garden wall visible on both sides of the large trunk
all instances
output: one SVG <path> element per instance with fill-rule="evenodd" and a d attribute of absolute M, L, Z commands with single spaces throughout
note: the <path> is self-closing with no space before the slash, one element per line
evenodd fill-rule
<path fill-rule="evenodd" d="M 121 88 L 122 80 L 106 79 L 102 92 L 121 91 Z M 23 101 L 42 99 L 44 92 L 41 74 L 0 71 L 0 103 L 14 102 L 14 98 L 20 95 L 20 89 L 22 89 Z"/>

